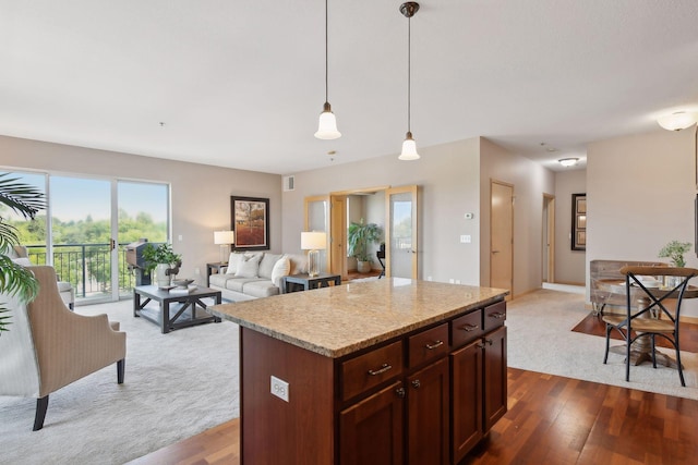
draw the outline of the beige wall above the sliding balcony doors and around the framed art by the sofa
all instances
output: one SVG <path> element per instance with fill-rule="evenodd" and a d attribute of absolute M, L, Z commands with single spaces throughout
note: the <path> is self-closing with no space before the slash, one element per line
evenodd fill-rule
<path fill-rule="evenodd" d="M 270 245 L 281 250 L 281 178 L 276 174 L 170 161 L 60 144 L 0 136 L 3 170 L 77 174 L 170 184 L 172 247 L 183 256 L 181 277 L 204 281 L 206 262 L 219 261 L 213 232 L 230 228 L 230 196 L 268 197 Z M 302 209 L 299 210 L 302 217 Z M 178 241 L 179 235 L 182 241 Z M 198 268 L 201 276 L 195 277 Z"/>

